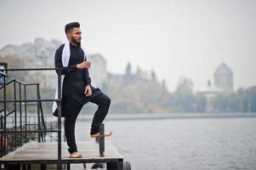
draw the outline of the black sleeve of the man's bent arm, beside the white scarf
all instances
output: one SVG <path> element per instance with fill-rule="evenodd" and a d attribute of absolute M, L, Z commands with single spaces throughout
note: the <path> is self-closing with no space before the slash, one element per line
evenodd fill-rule
<path fill-rule="evenodd" d="M 69 74 L 71 71 L 76 71 L 77 65 L 68 65 L 66 67 L 63 67 L 62 60 L 61 60 L 61 54 L 62 54 L 63 48 L 64 48 L 64 45 L 61 45 L 60 48 L 56 50 L 54 59 L 55 59 L 55 68 L 61 68 L 61 75 L 66 75 L 66 74 Z"/>

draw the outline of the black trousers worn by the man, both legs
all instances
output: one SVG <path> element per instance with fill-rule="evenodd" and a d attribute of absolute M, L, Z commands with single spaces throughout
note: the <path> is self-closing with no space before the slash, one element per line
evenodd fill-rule
<path fill-rule="evenodd" d="M 105 116 L 109 110 L 111 105 L 111 99 L 105 95 L 104 93 L 100 92 L 97 96 L 90 99 L 89 102 L 92 102 L 98 105 L 97 111 L 94 113 L 93 122 L 91 125 L 91 134 L 99 133 L 100 132 L 100 123 L 104 121 Z M 75 138 L 75 124 L 77 121 L 77 116 L 81 111 L 82 106 L 76 107 L 66 107 L 66 116 L 65 116 L 65 137 L 66 142 L 69 147 L 68 151 L 70 153 L 77 151 L 77 144 Z"/>

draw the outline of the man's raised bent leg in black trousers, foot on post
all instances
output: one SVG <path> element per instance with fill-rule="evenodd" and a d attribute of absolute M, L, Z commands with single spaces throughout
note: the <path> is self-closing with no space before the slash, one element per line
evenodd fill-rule
<path fill-rule="evenodd" d="M 95 134 L 100 132 L 100 123 L 104 121 L 105 116 L 109 111 L 111 99 L 103 92 L 100 92 L 100 94 L 89 101 L 98 105 L 98 109 L 94 113 L 94 119 L 91 127 L 91 134 Z"/>

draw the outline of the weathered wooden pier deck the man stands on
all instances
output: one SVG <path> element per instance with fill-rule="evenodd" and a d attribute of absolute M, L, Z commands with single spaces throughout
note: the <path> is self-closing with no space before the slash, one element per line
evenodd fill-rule
<path fill-rule="evenodd" d="M 122 161 L 123 157 L 111 142 L 105 142 L 105 156 L 99 154 L 99 144 L 94 141 L 77 143 L 77 150 L 82 153 L 82 158 L 69 158 L 67 144 L 62 143 L 61 158 L 63 163 L 86 163 L 86 162 L 113 162 Z M 57 143 L 27 143 L 18 150 L 14 150 L 7 156 L 0 158 L 0 163 L 56 163 L 58 156 Z"/>

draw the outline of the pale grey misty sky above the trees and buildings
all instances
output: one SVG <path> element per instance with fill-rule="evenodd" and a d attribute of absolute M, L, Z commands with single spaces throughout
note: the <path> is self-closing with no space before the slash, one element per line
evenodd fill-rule
<path fill-rule="evenodd" d="M 130 62 L 133 71 L 156 71 L 171 91 L 180 76 L 201 89 L 224 61 L 235 89 L 249 87 L 256 85 L 255 8 L 255 0 L 0 0 L 0 48 L 35 37 L 64 42 L 65 24 L 79 21 L 88 54 L 103 54 L 113 73 Z"/>

